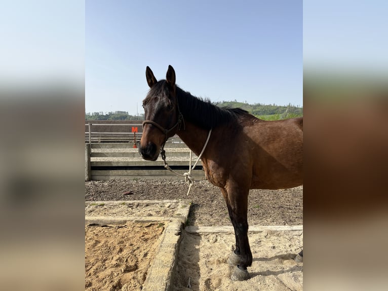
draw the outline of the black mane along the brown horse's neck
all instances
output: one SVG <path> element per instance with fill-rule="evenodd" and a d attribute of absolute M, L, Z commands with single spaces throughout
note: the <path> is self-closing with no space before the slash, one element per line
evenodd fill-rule
<path fill-rule="evenodd" d="M 178 86 L 176 96 L 184 119 L 204 129 L 235 121 L 239 116 L 247 114 L 247 111 L 241 108 L 216 106 L 209 99 L 193 96 Z"/>

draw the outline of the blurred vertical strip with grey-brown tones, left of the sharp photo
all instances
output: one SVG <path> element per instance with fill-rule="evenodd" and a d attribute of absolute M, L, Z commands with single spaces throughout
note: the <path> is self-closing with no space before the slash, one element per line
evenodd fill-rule
<path fill-rule="evenodd" d="M 83 289 L 85 4 L 1 11 L 0 289 Z"/>

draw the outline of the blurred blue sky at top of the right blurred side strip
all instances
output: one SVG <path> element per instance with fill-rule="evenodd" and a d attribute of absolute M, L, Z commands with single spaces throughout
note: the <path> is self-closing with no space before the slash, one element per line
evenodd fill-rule
<path fill-rule="evenodd" d="M 385 0 L 304 1 L 304 67 L 386 76 L 387 11 Z"/>

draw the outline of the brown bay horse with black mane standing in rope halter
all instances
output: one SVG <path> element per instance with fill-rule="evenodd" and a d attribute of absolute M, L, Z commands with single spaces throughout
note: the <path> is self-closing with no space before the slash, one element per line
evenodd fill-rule
<path fill-rule="evenodd" d="M 165 80 L 157 81 L 148 66 L 145 75 L 150 89 L 143 100 L 140 155 L 157 160 L 167 139 L 175 134 L 197 156 L 204 150 L 205 177 L 220 188 L 235 230 L 236 246 L 228 258 L 235 265 L 231 279 L 249 279 L 249 190 L 303 184 L 303 117 L 264 121 L 241 108 L 216 106 L 179 88 L 171 65 Z"/>

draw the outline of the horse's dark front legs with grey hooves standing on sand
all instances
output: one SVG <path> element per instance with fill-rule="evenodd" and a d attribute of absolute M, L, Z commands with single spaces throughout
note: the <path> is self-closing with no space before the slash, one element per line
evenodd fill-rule
<path fill-rule="evenodd" d="M 231 223 L 235 229 L 236 250 L 235 255 L 229 257 L 229 261 L 238 262 L 232 273 L 232 280 L 247 280 L 249 274 L 247 267 L 252 265 L 252 252 L 248 240 L 248 193 L 249 190 L 242 191 L 241 188 L 227 190 L 227 207 Z"/>

